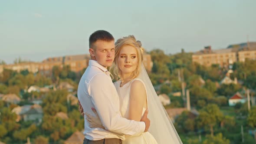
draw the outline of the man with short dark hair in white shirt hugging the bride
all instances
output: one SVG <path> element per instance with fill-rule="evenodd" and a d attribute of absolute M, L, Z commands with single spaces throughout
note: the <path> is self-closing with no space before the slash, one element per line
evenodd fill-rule
<path fill-rule="evenodd" d="M 107 67 L 115 57 L 114 37 L 105 30 L 98 30 L 89 38 L 91 60 L 80 79 L 77 95 L 83 111 L 95 116 L 95 108 L 105 129 L 90 128 L 85 117 L 83 144 L 121 144 L 126 135 L 148 131 L 150 121 L 147 113 L 141 121 L 122 118 L 119 112 L 119 97 Z"/>

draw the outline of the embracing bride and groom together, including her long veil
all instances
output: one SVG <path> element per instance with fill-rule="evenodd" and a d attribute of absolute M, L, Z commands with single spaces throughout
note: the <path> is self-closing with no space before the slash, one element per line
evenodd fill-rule
<path fill-rule="evenodd" d="M 115 42 L 98 30 L 89 52 L 77 91 L 85 114 L 83 144 L 182 144 L 144 68 L 140 41 L 126 36 Z"/>

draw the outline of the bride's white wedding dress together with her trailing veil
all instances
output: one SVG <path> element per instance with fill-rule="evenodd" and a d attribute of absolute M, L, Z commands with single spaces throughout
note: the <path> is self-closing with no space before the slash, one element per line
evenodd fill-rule
<path fill-rule="evenodd" d="M 144 65 L 141 66 L 141 73 L 138 78 L 133 79 L 131 82 L 134 80 L 141 81 L 146 89 L 148 118 L 151 124 L 148 132 L 136 136 L 127 136 L 123 144 L 182 144 L 171 119 L 154 90 Z M 122 87 L 120 87 L 121 81 L 115 82 L 115 88 L 120 98 L 120 112 L 125 118 L 128 118 L 131 82 L 126 83 Z M 145 108 L 143 109 L 142 115 L 144 111 Z"/>

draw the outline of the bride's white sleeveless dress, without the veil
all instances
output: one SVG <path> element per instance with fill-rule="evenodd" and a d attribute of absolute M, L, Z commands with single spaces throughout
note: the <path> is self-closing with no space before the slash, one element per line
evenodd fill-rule
<path fill-rule="evenodd" d="M 133 79 L 131 82 L 126 83 L 122 87 L 120 87 L 121 81 L 114 83 L 120 99 L 120 112 L 124 118 L 128 118 L 131 83 L 135 80 L 141 81 L 145 87 L 144 82 L 138 78 Z M 146 108 L 143 108 L 142 115 L 144 114 L 144 111 L 146 111 Z M 125 138 L 126 139 L 125 141 L 122 141 L 122 144 L 157 144 L 157 141 L 149 132 L 144 132 L 133 136 L 126 136 Z"/>

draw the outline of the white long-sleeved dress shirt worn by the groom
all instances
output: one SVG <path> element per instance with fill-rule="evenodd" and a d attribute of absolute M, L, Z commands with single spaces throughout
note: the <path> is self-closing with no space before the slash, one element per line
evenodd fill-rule
<path fill-rule="evenodd" d="M 85 118 L 85 138 L 101 140 L 104 138 L 120 138 L 124 134 L 135 135 L 144 132 L 145 123 L 121 117 L 119 97 L 108 70 L 95 60 L 89 60 L 89 66 L 80 79 L 77 95 L 84 112 L 95 116 L 91 108 L 95 108 L 105 129 L 90 128 Z"/>

